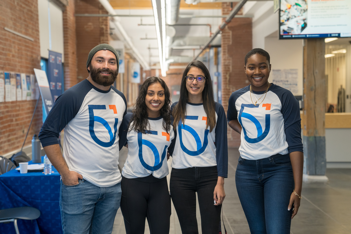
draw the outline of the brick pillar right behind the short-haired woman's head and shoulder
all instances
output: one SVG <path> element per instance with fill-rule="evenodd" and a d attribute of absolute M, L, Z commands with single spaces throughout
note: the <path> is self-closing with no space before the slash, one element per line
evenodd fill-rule
<path fill-rule="evenodd" d="M 233 7 L 236 5 L 233 2 Z M 229 14 L 231 3 L 222 3 L 222 14 Z M 239 12 L 241 14 L 241 10 Z M 249 85 L 244 58 L 252 49 L 251 18 L 233 18 L 222 31 L 222 105 L 227 111 L 232 92 Z M 228 147 L 240 146 L 240 134 L 228 127 Z"/>

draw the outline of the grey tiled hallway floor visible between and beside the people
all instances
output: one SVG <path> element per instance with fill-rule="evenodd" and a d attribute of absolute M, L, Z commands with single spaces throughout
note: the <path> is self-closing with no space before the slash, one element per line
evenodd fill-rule
<path fill-rule="evenodd" d="M 127 148 L 120 151 L 120 166 L 124 165 Z M 228 178 L 225 179 L 223 219 L 228 234 L 250 234 L 235 186 L 238 148 L 229 148 Z M 171 170 L 171 160 L 168 166 Z M 303 183 L 301 206 L 291 222 L 291 234 L 351 234 L 351 169 L 327 169 L 328 184 Z M 167 176 L 169 185 L 169 175 Z M 197 205 L 197 220 L 201 233 L 201 220 Z M 222 232 L 224 233 L 223 224 Z M 112 234 L 124 234 L 124 221 L 118 209 Z M 147 221 L 145 233 L 150 233 Z M 176 211 L 172 204 L 170 234 L 181 234 Z"/>

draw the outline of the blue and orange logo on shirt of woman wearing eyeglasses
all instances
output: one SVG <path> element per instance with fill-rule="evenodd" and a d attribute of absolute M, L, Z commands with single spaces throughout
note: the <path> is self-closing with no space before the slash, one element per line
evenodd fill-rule
<path fill-rule="evenodd" d="M 199 116 L 196 116 L 196 115 L 185 115 L 185 119 L 198 120 Z M 207 124 L 207 117 L 203 116 L 201 121 L 206 121 L 205 124 Z M 185 130 L 185 131 L 189 132 L 193 136 L 193 138 L 196 141 L 196 151 L 191 151 L 191 150 L 187 149 L 184 146 L 183 139 L 182 139 L 182 130 Z M 201 139 L 200 139 L 199 134 L 197 134 L 197 132 L 192 127 L 190 127 L 188 125 L 185 125 L 185 124 L 183 125 L 181 120 L 180 120 L 179 123 L 178 123 L 178 134 L 179 134 L 179 140 L 180 140 L 180 148 L 185 153 L 187 153 L 188 155 L 191 155 L 191 156 L 197 156 L 197 155 L 202 154 L 205 151 L 205 149 L 207 147 L 207 144 L 208 144 L 207 135 L 208 135 L 209 132 L 210 132 L 210 130 L 205 129 L 205 131 L 204 131 L 204 143 L 201 143 Z"/>

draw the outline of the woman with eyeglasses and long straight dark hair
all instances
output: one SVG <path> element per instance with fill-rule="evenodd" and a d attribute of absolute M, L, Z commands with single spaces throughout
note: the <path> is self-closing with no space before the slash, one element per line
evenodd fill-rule
<path fill-rule="evenodd" d="M 185 68 L 180 99 L 171 109 L 176 141 L 168 149 L 170 191 L 181 231 L 198 233 L 197 193 L 202 233 L 218 233 L 228 171 L 227 122 L 204 63 L 193 61 Z"/>

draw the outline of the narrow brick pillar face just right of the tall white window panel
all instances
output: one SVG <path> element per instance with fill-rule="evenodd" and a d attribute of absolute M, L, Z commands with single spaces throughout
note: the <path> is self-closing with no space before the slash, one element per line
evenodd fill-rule
<path fill-rule="evenodd" d="M 68 6 L 62 13 L 64 28 L 64 79 L 65 90 L 77 83 L 77 44 L 75 36 L 74 0 L 68 0 Z"/>

